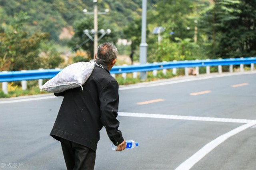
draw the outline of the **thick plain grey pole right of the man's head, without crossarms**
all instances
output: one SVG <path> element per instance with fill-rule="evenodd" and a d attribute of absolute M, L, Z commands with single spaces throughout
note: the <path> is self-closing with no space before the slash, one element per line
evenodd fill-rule
<path fill-rule="evenodd" d="M 141 23 L 141 43 L 140 43 L 140 64 L 147 63 L 147 47 L 146 43 L 146 19 L 147 19 L 147 0 L 142 0 L 142 23 Z M 146 71 L 140 72 L 140 79 L 147 78 Z"/>

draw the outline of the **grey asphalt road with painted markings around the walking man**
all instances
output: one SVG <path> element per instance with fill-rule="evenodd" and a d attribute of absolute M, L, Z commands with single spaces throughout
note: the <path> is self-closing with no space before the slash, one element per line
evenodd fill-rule
<path fill-rule="evenodd" d="M 62 97 L 0 100 L 0 169 L 65 170 L 50 131 Z M 116 152 L 104 128 L 95 170 L 255 170 L 256 72 L 120 87 Z"/>

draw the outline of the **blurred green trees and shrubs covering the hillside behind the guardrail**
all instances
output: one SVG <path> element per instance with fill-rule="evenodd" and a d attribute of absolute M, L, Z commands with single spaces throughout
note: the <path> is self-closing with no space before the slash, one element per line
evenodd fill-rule
<path fill-rule="evenodd" d="M 1 0 L 0 71 L 64 67 L 93 57 L 93 0 Z M 99 41 L 138 61 L 142 0 L 98 0 Z M 255 0 L 147 0 L 148 62 L 256 55 Z M 155 27 L 164 31 L 152 34 Z M 159 38 L 158 38 L 159 36 Z M 87 41 L 88 40 L 88 41 Z M 86 43 L 85 43 L 86 42 Z"/>

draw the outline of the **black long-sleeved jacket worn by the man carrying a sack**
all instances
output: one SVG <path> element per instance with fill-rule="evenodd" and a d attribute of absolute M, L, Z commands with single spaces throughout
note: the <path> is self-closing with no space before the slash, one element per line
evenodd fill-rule
<path fill-rule="evenodd" d="M 81 87 L 68 89 L 55 96 L 64 96 L 50 135 L 56 140 L 65 138 L 96 151 L 100 129 L 106 128 L 108 137 L 118 145 L 124 141 L 118 130 L 118 83 L 104 62 L 96 60 L 91 76 Z"/>

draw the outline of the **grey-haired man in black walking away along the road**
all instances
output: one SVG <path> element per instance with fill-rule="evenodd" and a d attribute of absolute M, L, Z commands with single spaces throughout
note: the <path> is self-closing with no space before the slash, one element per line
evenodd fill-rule
<path fill-rule="evenodd" d="M 118 51 L 114 44 L 99 45 L 92 74 L 80 87 L 68 89 L 55 96 L 63 96 L 62 105 L 50 135 L 61 142 L 68 170 L 93 170 L 100 129 L 104 126 L 108 137 L 117 146 L 126 148 L 126 141 L 118 130 L 118 83 L 109 73 L 116 63 Z"/>

